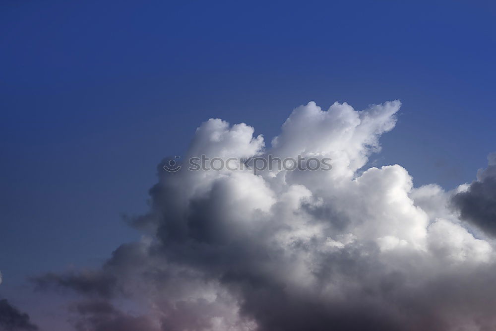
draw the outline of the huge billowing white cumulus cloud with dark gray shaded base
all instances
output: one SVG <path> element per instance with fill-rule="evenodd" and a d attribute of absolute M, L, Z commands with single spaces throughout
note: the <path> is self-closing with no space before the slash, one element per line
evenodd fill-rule
<path fill-rule="evenodd" d="M 78 330 L 492 330 L 494 247 L 451 207 L 462 188 L 363 169 L 400 105 L 310 102 L 270 147 L 246 124 L 209 120 L 186 158 L 330 157 L 332 169 L 170 173 L 166 159 L 150 210 L 130 220 L 141 241 L 92 273 L 36 282 L 81 295 Z"/>

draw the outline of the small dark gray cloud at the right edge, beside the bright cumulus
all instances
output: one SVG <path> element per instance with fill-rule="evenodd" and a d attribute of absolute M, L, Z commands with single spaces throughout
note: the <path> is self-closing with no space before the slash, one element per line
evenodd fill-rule
<path fill-rule="evenodd" d="M 488 158 L 489 166 L 479 171 L 466 192 L 453 197 L 453 203 L 463 219 L 496 236 L 496 153 Z"/>

